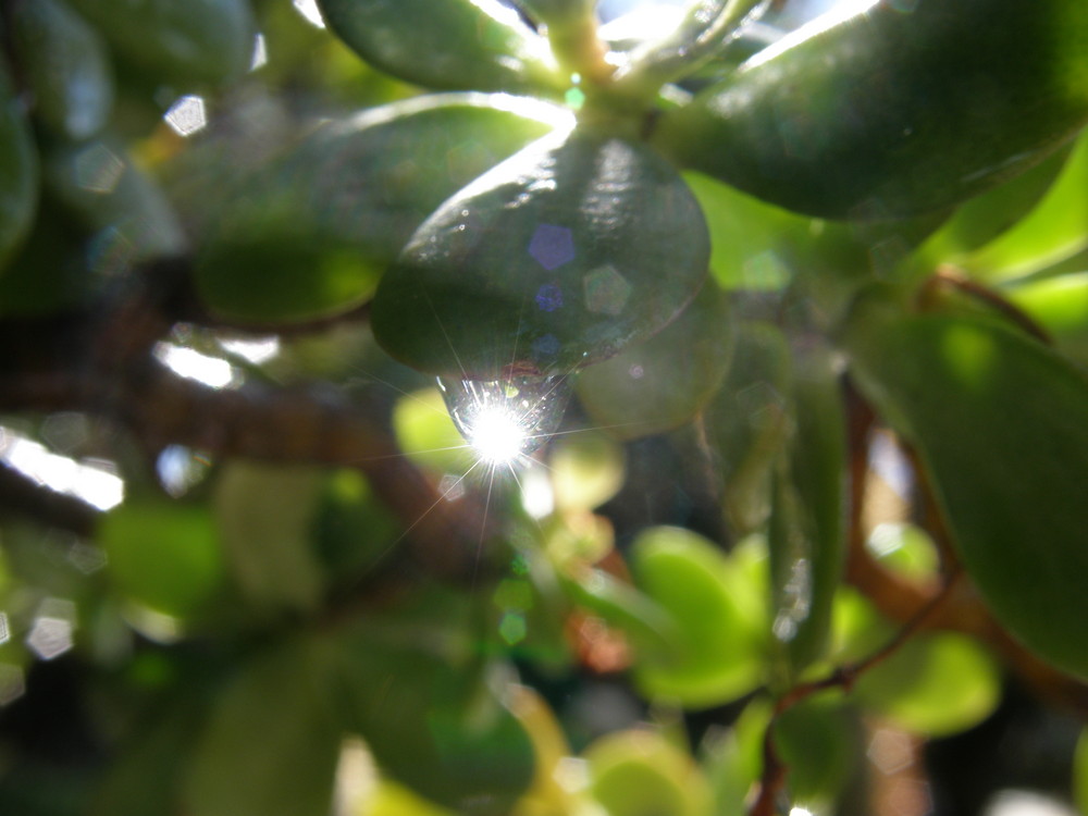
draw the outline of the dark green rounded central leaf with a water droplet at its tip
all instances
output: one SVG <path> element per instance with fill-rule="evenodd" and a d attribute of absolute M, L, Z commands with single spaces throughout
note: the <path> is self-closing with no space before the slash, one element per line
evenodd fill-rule
<path fill-rule="evenodd" d="M 566 374 L 663 329 L 709 247 L 694 198 L 639 143 L 545 137 L 446 201 L 374 298 L 374 336 L 457 379 Z"/>

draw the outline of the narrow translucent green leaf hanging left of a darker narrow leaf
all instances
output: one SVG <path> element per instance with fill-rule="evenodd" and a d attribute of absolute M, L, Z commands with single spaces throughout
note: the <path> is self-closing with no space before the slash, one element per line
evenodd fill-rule
<path fill-rule="evenodd" d="M 707 436 L 720 461 L 726 519 L 738 535 L 770 514 L 771 473 L 791 432 L 792 360 L 781 330 L 738 325 L 732 364 L 706 409 Z"/>

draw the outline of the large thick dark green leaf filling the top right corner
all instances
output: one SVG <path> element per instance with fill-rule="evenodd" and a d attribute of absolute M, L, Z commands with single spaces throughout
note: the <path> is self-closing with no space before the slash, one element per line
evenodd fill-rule
<path fill-rule="evenodd" d="M 1088 10 L 1062 0 L 843 5 L 667 111 L 654 140 L 683 166 L 800 212 L 939 210 L 1088 122 L 1071 79 L 1086 40 Z"/>

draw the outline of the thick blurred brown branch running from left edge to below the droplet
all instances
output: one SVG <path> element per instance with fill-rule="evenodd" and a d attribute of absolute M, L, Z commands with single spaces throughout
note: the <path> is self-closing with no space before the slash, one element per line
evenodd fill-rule
<path fill-rule="evenodd" d="M 91 413 L 151 453 L 177 444 L 213 456 L 358 468 L 404 523 L 423 569 L 473 578 L 481 543 L 493 536 L 482 503 L 471 493 L 447 502 L 374 419 L 384 416 L 380 406 L 316 388 L 210 388 L 153 358 L 187 272 L 184 260 L 162 261 L 94 308 L 0 321 L 0 410 Z"/>

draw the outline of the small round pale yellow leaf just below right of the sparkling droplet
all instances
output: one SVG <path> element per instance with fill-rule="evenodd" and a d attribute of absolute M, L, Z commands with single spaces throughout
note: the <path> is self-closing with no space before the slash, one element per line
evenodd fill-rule
<path fill-rule="evenodd" d="M 595 431 L 560 436 L 552 444 L 548 466 L 560 509 L 592 510 L 623 486 L 623 448 Z"/>

